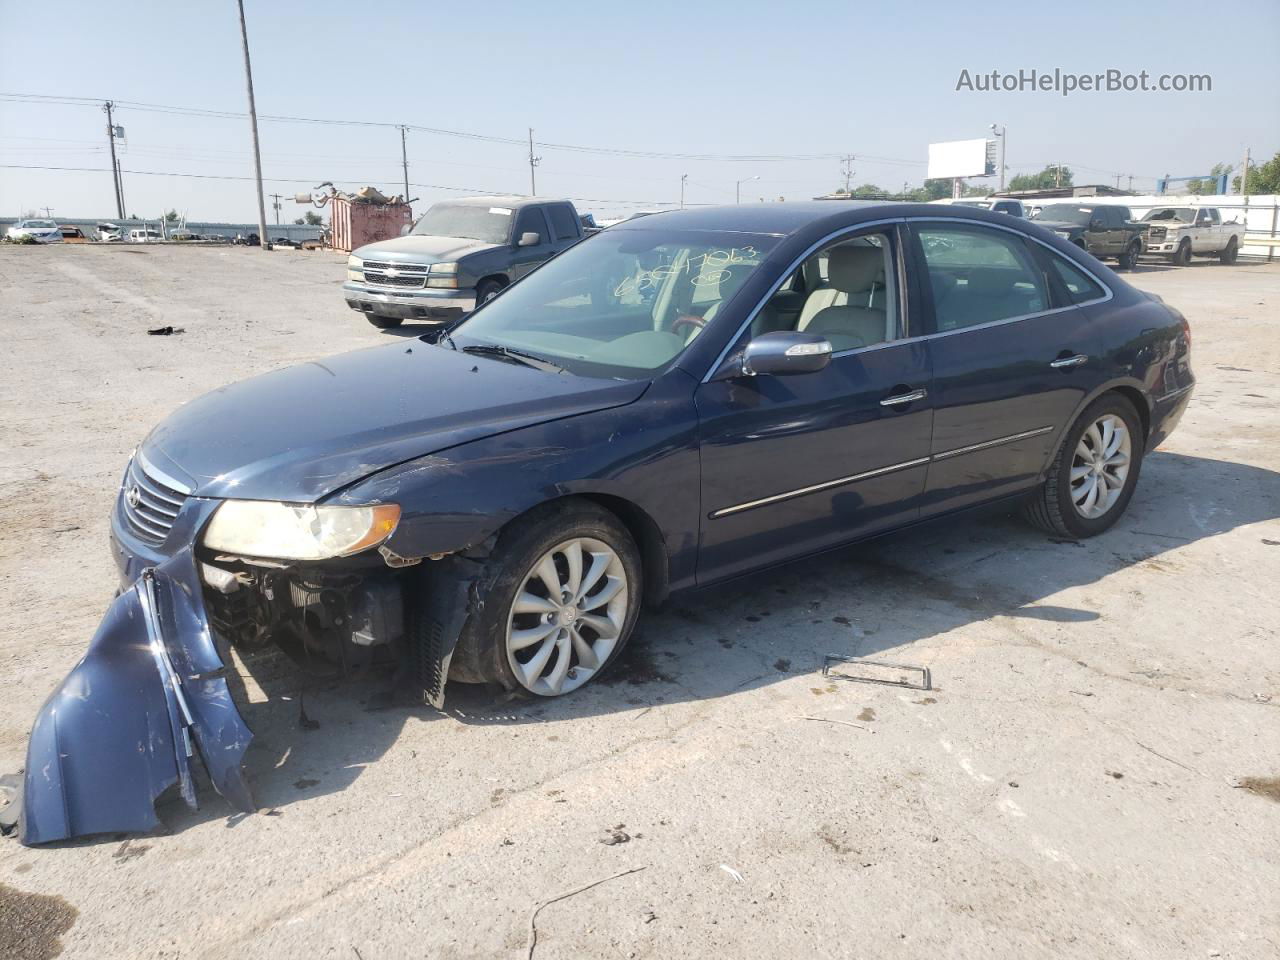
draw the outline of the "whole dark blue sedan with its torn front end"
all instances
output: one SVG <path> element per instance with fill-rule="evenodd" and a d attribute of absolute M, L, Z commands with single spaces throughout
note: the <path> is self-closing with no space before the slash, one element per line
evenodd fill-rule
<path fill-rule="evenodd" d="M 447 329 L 216 390 L 125 470 L 23 837 L 148 829 L 196 756 L 252 809 L 228 644 L 559 696 L 677 593 L 1000 499 L 1101 534 L 1189 351 L 1034 223 L 777 204 L 618 224 Z"/>

